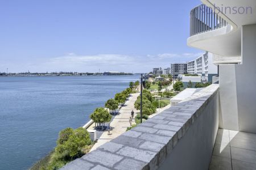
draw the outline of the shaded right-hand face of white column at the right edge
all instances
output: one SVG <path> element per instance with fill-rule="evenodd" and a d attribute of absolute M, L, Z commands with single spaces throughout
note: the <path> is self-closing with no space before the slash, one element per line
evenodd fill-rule
<path fill-rule="evenodd" d="M 240 131 L 256 133 L 256 24 L 242 27 L 242 65 L 236 66 Z"/>

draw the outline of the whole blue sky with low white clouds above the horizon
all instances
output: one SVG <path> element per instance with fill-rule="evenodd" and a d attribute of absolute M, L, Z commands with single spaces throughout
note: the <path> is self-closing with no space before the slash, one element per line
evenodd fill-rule
<path fill-rule="evenodd" d="M 0 72 L 148 72 L 193 59 L 200 0 L 1 1 Z"/>

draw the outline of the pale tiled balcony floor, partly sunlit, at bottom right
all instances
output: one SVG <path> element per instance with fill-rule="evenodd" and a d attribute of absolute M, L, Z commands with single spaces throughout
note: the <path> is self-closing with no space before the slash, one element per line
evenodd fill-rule
<path fill-rule="evenodd" d="M 219 129 L 209 169 L 256 169 L 256 134 Z"/>

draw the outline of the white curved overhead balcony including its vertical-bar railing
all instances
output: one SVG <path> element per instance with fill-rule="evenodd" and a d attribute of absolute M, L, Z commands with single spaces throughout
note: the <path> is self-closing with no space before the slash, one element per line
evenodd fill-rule
<path fill-rule="evenodd" d="M 241 31 L 220 11 L 200 5 L 190 13 L 189 46 L 225 57 L 241 56 Z"/>

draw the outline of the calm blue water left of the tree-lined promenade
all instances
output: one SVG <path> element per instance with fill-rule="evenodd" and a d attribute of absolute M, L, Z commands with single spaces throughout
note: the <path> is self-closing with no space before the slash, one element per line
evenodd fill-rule
<path fill-rule="evenodd" d="M 28 169 L 56 146 L 61 129 L 89 114 L 138 76 L 0 77 L 0 169 Z"/>

